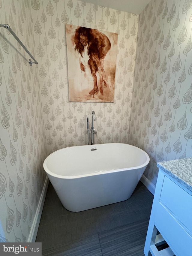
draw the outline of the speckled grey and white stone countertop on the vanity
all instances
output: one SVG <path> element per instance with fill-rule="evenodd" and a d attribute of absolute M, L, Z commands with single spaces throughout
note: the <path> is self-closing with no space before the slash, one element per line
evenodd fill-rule
<path fill-rule="evenodd" d="M 192 158 L 159 162 L 157 167 L 192 191 Z"/>

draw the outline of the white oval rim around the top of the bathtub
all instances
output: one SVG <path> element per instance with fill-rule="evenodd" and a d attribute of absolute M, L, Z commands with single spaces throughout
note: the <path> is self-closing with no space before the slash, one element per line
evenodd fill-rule
<path fill-rule="evenodd" d="M 107 144 L 112 144 L 112 143 L 107 143 Z M 125 144 L 125 143 L 115 143 L 115 144 Z M 92 146 L 92 147 L 96 147 L 96 146 L 99 146 L 99 145 L 104 145 L 104 144 L 97 144 L 97 145 L 84 145 L 84 146 Z M 55 178 L 60 178 L 60 179 L 76 179 L 76 178 L 82 178 L 82 177 L 87 177 L 87 176 L 94 176 L 94 175 L 101 175 L 101 174 L 105 174 L 105 173 L 115 173 L 115 172 L 120 172 L 120 171 L 128 171 L 128 170 L 138 170 L 138 169 L 141 169 L 143 167 L 147 167 L 147 165 L 149 164 L 149 161 L 150 161 L 150 158 L 149 158 L 149 155 L 143 150 L 143 149 L 140 149 L 136 146 L 133 146 L 133 145 L 130 145 L 130 144 L 125 144 L 125 145 L 129 145 L 131 147 L 134 147 L 134 148 L 137 148 L 139 149 L 140 151 L 142 151 L 145 155 L 146 155 L 146 162 L 142 165 L 139 165 L 139 166 L 135 166 L 135 167 L 127 167 L 127 168 L 122 168 L 122 169 L 115 169 L 115 170 L 100 170 L 100 171 L 97 171 L 95 173 L 88 173 L 88 174 L 80 174 L 80 175 L 73 175 L 73 176 L 64 176 L 64 175 L 59 175 L 59 174 L 56 174 L 56 173 L 53 173 L 51 172 L 47 166 L 46 166 L 46 162 L 48 161 L 48 159 L 56 154 L 58 151 L 60 150 L 64 150 L 64 149 L 67 149 L 67 148 L 62 148 L 62 149 L 58 149 L 56 150 L 55 152 L 52 152 L 50 155 L 48 155 L 46 157 L 46 159 L 44 160 L 44 163 L 43 163 L 43 167 L 44 167 L 44 170 L 47 174 L 49 174 L 50 176 L 53 176 Z M 75 146 L 75 147 L 82 147 L 82 146 Z M 144 169 L 145 171 L 145 169 Z M 144 172 L 143 171 L 143 172 Z"/>

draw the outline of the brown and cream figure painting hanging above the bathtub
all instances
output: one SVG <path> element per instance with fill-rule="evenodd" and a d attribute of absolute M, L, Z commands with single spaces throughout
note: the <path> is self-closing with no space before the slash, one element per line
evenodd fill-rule
<path fill-rule="evenodd" d="M 114 102 L 117 37 L 66 24 L 69 101 Z"/>

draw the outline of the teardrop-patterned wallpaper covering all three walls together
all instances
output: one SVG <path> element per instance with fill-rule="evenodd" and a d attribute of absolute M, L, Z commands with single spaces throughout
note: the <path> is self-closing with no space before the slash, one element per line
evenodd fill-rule
<path fill-rule="evenodd" d="M 8 23 L 38 65 L 0 29 L 0 242 L 25 242 L 51 152 L 86 145 L 95 110 L 95 144 L 129 143 L 158 161 L 192 155 L 192 0 L 152 0 L 140 15 L 77 0 L 0 0 Z M 118 34 L 114 103 L 69 102 L 65 24 Z M 89 124 L 90 125 L 90 124 Z"/>

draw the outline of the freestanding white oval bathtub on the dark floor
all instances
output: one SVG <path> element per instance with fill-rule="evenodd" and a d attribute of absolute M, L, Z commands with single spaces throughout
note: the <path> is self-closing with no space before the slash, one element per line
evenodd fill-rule
<path fill-rule="evenodd" d="M 80 212 L 127 200 L 148 163 L 142 149 L 107 143 L 59 149 L 43 166 L 63 206 Z"/>

